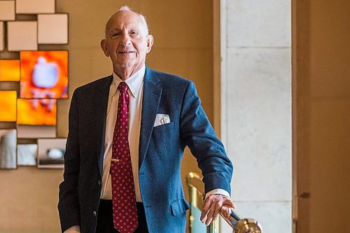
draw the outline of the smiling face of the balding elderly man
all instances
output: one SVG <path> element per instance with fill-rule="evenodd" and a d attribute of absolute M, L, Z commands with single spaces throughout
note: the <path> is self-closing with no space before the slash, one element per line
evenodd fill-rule
<path fill-rule="evenodd" d="M 117 74 L 139 70 L 152 45 L 153 36 L 147 36 L 141 18 L 130 10 L 122 10 L 111 17 L 106 25 L 106 39 L 101 41 L 102 50 L 111 57 Z"/>

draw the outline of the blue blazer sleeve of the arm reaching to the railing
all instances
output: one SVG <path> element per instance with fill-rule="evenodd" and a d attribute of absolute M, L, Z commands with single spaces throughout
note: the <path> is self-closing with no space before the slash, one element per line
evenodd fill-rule
<path fill-rule="evenodd" d="M 204 191 L 207 193 L 218 188 L 230 194 L 232 163 L 204 113 L 195 85 L 191 81 L 188 81 L 183 96 L 180 131 L 181 138 L 196 157 L 198 167 L 202 170 Z"/>

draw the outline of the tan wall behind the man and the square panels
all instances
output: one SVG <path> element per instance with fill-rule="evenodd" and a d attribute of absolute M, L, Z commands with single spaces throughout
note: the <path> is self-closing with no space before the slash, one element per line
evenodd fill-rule
<path fill-rule="evenodd" d="M 56 11 L 69 13 L 69 45 L 45 45 L 39 49 L 69 50 L 69 97 L 76 87 L 111 74 L 111 62 L 104 57 L 99 42 L 104 36 L 106 20 L 125 3 L 146 15 L 151 34 L 155 37 L 147 64 L 153 69 L 193 80 L 204 110 L 212 120 L 211 0 L 57 0 Z M 16 57 L 8 53 L 3 55 Z M 70 99 L 58 101 L 57 136 L 67 135 L 69 103 Z M 193 170 L 196 170 L 195 159 L 186 153 L 183 177 Z M 0 232 L 59 232 L 56 206 L 61 181 L 62 170 L 20 167 L 0 171 Z"/>

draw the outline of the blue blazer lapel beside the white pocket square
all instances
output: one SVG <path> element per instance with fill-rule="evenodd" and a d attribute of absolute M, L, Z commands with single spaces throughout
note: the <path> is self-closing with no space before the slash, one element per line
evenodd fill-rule
<path fill-rule="evenodd" d="M 159 79 L 155 76 L 153 70 L 146 66 L 144 78 L 144 98 L 142 100 L 141 113 L 141 132 L 139 141 L 139 168 L 148 149 L 151 139 L 155 116 L 157 115 L 160 97 L 162 96 L 162 88 L 158 87 Z"/>

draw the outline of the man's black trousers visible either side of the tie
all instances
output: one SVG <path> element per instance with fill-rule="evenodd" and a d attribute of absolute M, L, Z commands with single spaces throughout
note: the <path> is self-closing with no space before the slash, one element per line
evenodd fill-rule
<path fill-rule="evenodd" d="M 96 233 L 119 233 L 113 225 L 112 200 L 100 199 L 97 215 Z M 144 204 L 137 202 L 137 218 L 139 225 L 134 233 L 148 233 Z"/>

